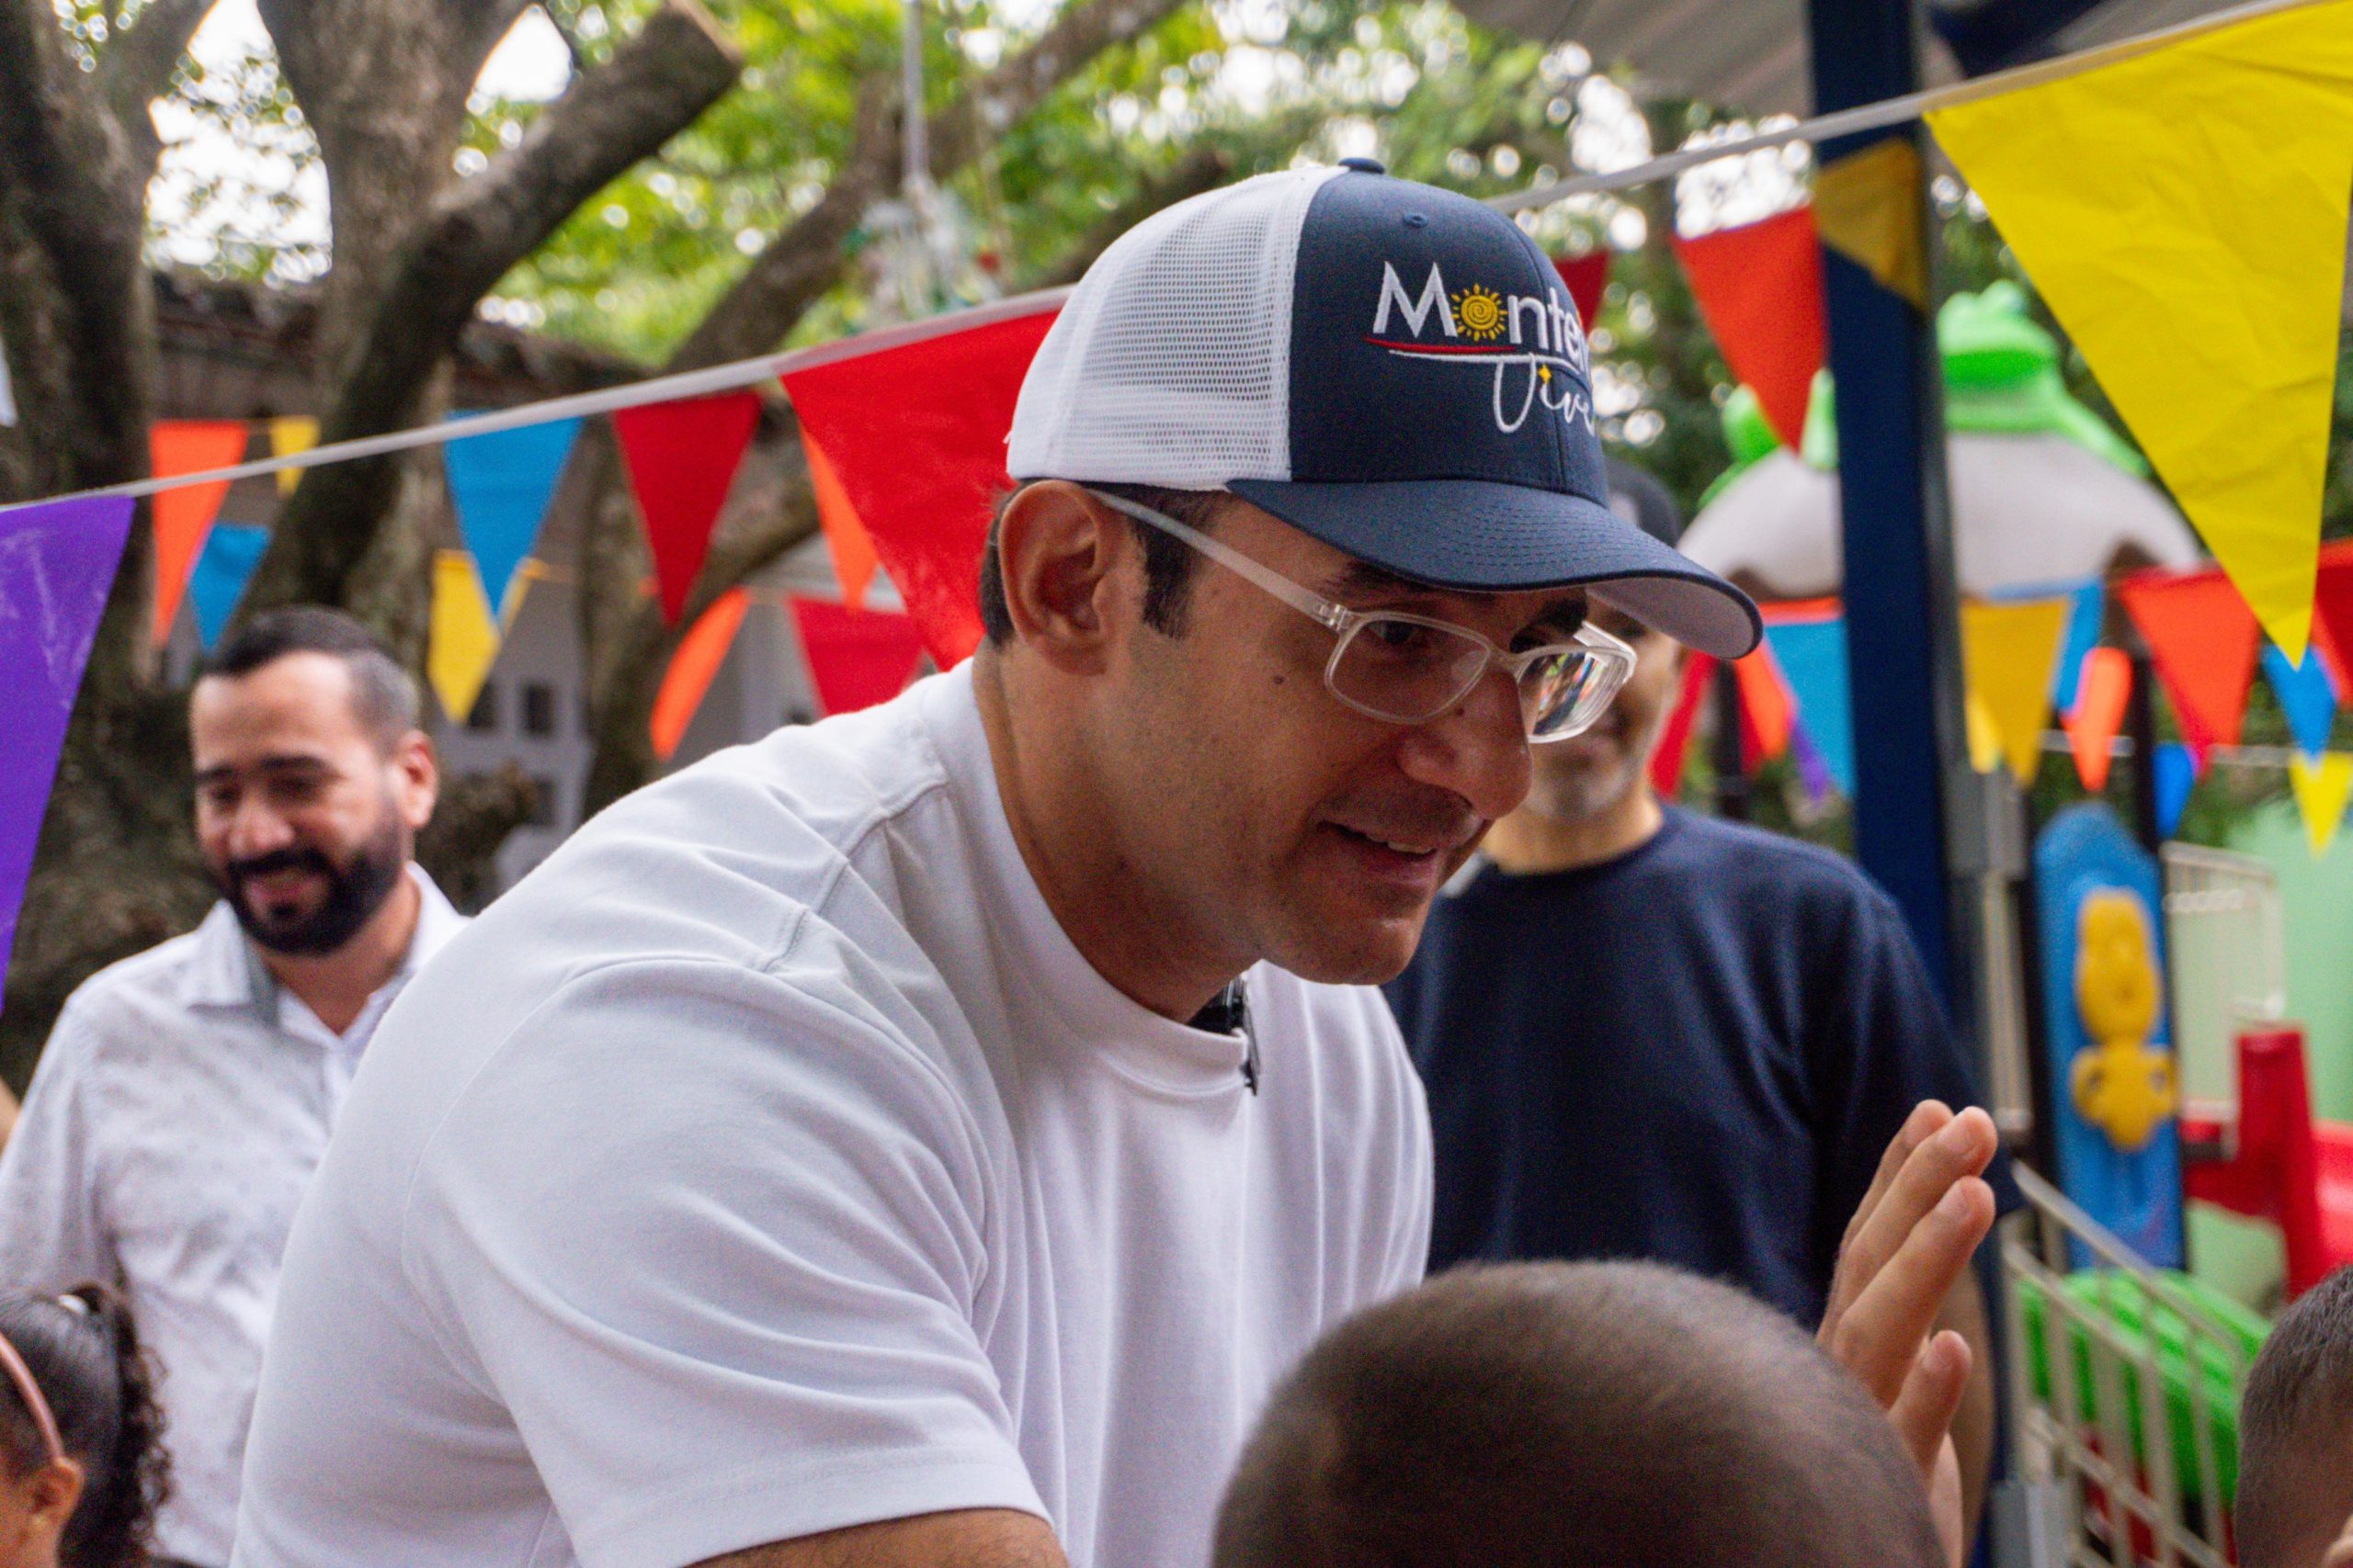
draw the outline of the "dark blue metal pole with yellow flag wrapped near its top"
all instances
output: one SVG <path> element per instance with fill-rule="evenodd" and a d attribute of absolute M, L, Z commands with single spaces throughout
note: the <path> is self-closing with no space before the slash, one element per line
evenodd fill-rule
<path fill-rule="evenodd" d="M 1809 0 L 1809 24 L 1819 113 L 1918 89 L 1911 0 Z M 1817 148 L 1817 158 L 1828 165 L 1887 136 L 1918 143 L 1922 134 L 1918 125 L 1866 132 Z M 1927 233 L 1925 193 L 1915 200 Z M 1948 1011 L 1967 1027 L 1972 940 L 1953 879 L 1967 736 L 1937 334 L 1911 301 L 1831 249 L 1824 292 L 1838 383 L 1854 849 L 1904 910 Z"/>

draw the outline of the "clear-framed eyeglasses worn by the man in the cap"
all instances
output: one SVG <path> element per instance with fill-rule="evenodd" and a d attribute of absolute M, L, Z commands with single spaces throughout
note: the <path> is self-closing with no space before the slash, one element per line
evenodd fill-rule
<path fill-rule="evenodd" d="M 1325 686 L 1341 703 L 1374 719 L 1424 724 L 1471 696 L 1487 679 L 1487 670 L 1504 670 L 1520 691 L 1520 717 L 1527 724 L 1529 743 L 1544 745 L 1591 729 L 1626 677 L 1633 675 L 1633 649 L 1595 625 L 1577 628 L 1574 642 L 1548 642 L 1513 654 L 1468 625 L 1393 609 L 1362 611 L 1334 604 L 1165 512 L 1099 489 L 1087 494 L 1115 512 L 1184 541 L 1219 567 L 1322 623 L 1337 637 L 1332 658 L 1325 661 Z"/>

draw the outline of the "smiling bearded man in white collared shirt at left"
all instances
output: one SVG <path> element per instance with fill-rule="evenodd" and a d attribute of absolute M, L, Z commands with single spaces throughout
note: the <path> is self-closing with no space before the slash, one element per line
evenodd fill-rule
<path fill-rule="evenodd" d="M 66 1001 L 0 1154 L 0 1286 L 125 1291 L 162 1371 L 158 1549 L 226 1563 L 294 1206 L 376 1020 L 464 922 L 409 860 L 416 689 L 355 621 L 249 621 L 188 736 L 221 903 Z"/>

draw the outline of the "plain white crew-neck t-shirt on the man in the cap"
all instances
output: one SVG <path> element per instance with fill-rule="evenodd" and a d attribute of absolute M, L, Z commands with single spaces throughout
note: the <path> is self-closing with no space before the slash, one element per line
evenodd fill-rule
<path fill-rule="evenodd" d="M 969 668 L 584 827 L 367 1053 L 287 1246 L 242 1568 L 678 1568 L 936 1509 L 1207 1561 L 1275 1378 L 1421 1274 L 1374 990 L 1245 1044 L 1064 936 Z"/>

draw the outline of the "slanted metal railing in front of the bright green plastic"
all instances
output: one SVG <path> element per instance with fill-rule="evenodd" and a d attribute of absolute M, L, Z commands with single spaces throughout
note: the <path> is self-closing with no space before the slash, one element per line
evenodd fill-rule
<path fill-rule="evenodd" d="M 2066 1194 L 2014 1171 L 2028 1208 L 2005 1220 L 2000 1258 L 2017 1472 L 2033 1502 L 2024 1563 L 2228 1568 L 2226 1481 L 2252 1354 Z M 2092 1269 L 2073 1267 L 2082 1255 Z M 2169 1385 L 2174 1359 L 2186 1399 Z"/>

